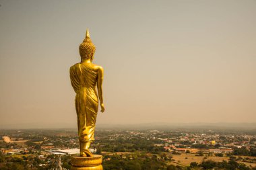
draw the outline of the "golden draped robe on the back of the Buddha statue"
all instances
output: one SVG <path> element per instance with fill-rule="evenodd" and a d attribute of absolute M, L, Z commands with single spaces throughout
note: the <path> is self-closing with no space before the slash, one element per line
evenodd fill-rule
<path fill-rule="evenodd" d="M 80 63 L 70 67 L 71 85 L 75 90 L 75 110 L 79 142 L 94 140 L 94 130 L 98 112 L 96 84 L 98 73 Z"/>

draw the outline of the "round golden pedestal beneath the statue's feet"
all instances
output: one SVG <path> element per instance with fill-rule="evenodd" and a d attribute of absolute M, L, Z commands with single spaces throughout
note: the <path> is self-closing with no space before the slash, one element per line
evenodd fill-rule
<path fill-rule="evenodd" d="M 71 157 L 71 170 L 103 170 L 102 155 Z"/>

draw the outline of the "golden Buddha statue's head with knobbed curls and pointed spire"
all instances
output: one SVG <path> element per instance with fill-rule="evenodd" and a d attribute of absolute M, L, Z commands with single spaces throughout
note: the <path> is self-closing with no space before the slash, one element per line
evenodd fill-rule
<path fill-rule="evenodd" d="M 79 53 L 81 56 L 81 59 L 88 59 L 90 58 L 91 61 L 94 59 L 94 52 L 96 48 L 94 44 L 92 43 L 92 40 L 90 38 L 89 30 L 87 28 L 86 30 L 86 38 L 84 38 L 84 41 L 79 46 Z"/>

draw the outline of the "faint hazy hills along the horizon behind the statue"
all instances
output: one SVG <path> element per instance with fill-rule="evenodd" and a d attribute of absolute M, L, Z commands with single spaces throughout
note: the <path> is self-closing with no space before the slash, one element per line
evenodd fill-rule
<path fill-rule="evenodd" d="M 0 125 L 0 129 L 51 129 L 51 128 L 71 128 L 76 129 L 75 122 L 55 124 L 38 124 L 38 123 L 26 123 L 26 124 L 5 124 Z M 256 123 L 166 123 L 166 122 L 152 122 L 144 124 L 97 124 L 96 128 L 109 129 L 109 130 L 229 130 L 229 131 L 247 131 L 256 132 Z"/>

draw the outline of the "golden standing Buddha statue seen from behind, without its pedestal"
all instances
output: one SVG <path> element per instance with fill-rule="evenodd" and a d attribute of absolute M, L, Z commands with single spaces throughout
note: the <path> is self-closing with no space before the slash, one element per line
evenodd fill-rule
<path fill-rule="evenodd" d="M 96 48 L 90 39 L 89 30 L 79 46 L 81 62 L 70 67 L 71 85 L 75 90 L 75 110 L 80 144 L 80 157 L 92 157 L 90 143 L 94 141 L 95 123 L 100 99 L 101 112 L 104 112 L 102 97 L 102 67 L 92 63 Z M 98 94 L 96 92 L 98 89 Z"/>

